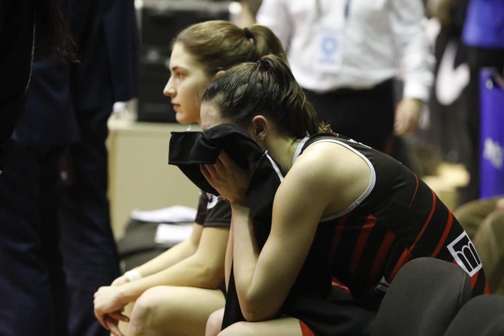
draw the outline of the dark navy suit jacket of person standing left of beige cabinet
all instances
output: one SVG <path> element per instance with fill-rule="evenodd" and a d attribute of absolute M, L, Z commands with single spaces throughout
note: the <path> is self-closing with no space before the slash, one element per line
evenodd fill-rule
<path fill-rule="evenodd" d="M 21 144 L 79 140 L 78 113 L 107 108 L 138 91 L 138 33 L 133 0 L 66 0 L 79 62 L 36 58 L 25 112 L 14 138 Z M 112 38 L 115 36 L 115 38 Z"/>

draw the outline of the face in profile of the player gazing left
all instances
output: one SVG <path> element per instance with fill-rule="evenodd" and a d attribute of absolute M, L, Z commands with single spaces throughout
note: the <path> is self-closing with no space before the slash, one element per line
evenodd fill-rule
<path fill-rule="evenodd" d="M 175 43 L 170 56 L 171 76 L 163 94 L 171 98 L 179 123 L 200 122 L 199 94 L 210 82 L 201 64 L 182 44 Z"/>

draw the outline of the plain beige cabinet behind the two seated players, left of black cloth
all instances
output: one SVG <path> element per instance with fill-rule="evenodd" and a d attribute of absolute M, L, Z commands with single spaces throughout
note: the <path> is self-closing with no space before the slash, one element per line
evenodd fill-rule
<path fill-rule="evenodd" d="M 187 125 L 111 118 L 108 127 L 110 216 L 116 238 L 134 209 L 198 206 L 198 188 L 168 165 L 170 132 L 184 131 Z M 192 130 L 199 129 L 192 125 Z"/>

